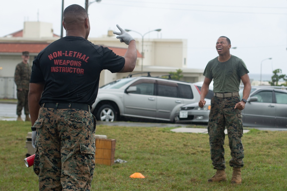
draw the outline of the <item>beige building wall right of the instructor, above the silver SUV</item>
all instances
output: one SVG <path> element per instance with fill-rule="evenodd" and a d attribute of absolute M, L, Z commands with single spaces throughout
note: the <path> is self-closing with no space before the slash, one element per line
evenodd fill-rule
<path fill-rule="evenodd" d="M 125 43 L 119 43 L 115 36 L 103 36 L 102 38 L 88 38 L 97 45 L 127 48 Z M 138 52 L 142 52 L 142 39 L 135 39 Z M 112 74 L 108 70 L 101 72 L 100 86 L 112 82 L 116 79 L 127 77 L 129 74 L 150 72 L 151 76 L 167 75 L 168 72 L 183 70 L 184 78 L 187 82 L 203 81 L 203 70 L 187 68 L 187 40 L 185 39 L 144 39 L 144 57 L 137 58 L 136 67 L 131 73 Z M 141 63 L 143 62 L 143 67 Z M 142 74 L 146 75 L 146 74 Z M 138 75 L 139 76 L 139 75 Z"/>

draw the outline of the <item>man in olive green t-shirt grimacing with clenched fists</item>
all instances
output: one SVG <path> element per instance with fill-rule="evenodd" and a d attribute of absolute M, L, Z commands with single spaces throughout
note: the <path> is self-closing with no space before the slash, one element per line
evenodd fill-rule
<path fill-rule="evenodd" d="M 230 40 L 225 36 L 218 38 L 216 50 L 218 57 L 210 60 L 203 72 L 205 76 L 201 88 L 199 107 L 206 103 L 205 96 L 213 79 L 214 97 L 211 99 L 211 109 L 208 122 L 210 154 L 216 174 L 208 182 L 226 181 L 224 160 L 224 129 L 228 132 L 229 147 L 232 159 L 229 165 L 233 167 L 231 184 L 241 184 L 241 167 L 243 167 L 244 149 L 241 142 L 243 135 L 241 110 L 244 109 L 251 90 L 249 71 L 240 58 L 230 54 Z M 243 82 L 243 98 L 239 97 L 239 85 Z"/>

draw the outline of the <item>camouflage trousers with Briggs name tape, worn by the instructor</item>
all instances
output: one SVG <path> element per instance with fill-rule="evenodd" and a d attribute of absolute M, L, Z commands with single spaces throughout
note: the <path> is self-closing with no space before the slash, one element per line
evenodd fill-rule
<path fill-rule="evenodd" d="M 90 190 L 96 150 L 90 111 L 41 107 L 33 127 L 39 190 Z"/>

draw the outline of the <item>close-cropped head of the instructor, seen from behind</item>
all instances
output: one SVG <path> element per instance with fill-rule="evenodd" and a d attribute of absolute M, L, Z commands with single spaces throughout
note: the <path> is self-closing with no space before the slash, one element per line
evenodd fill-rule
<path fill-rule="evenodd" d="M 63 13 L 63 21 L 65 23 L 66 30 L 84 23 L 86 18 L 88 18 L 86 9 L 76 4 L 68 6 Z"/>

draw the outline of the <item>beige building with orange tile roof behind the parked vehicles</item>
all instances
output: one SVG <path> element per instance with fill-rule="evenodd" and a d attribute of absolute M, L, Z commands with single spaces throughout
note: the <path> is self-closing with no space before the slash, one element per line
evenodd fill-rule
<path fill-rule="evenodd" d="M 60 36 L 53 33 L 51 23 L 44 22 L 24 22 L 24 29 L 8 34 L 0 38 L 0 88 L 1 86 L 15 91 L 13 80 L 15 67 L 21 62 L 21 54 L 23 51 L 30 52 L 29 64 L 32 65 L 34 58 L 38 53 L 48 46 L 51 42 L 58 40 Z M 115 38 L 113 31 L 108 31 L 108 35 L 101 38 L 88 38 L 94 44 L 105 46 L 113 50 L 116 54 L 124 56 L 127 50 L 125 43 L 120 43 L 119 39 Z M 141 39 L 136 39 L 137 42 L 137 64 L 132 73 L 139 73 L 143 69 L 144 72 L 151 72 L 152 76 L 166 75 L 169 72 L 183 70 L 183 81 L 198 82 L 203 81 L 203 70 L 187 68 L 187 40 L 184 39 L 145 39 L 143 67 L 141 67 Z M 100 76 L 100 86 L 111 81 L 124 78 L 129 73 L 111 73 L 108 70 L 103 70 Z M 3 80 L 1 80 L 3 79 Z M 11 80 L 12 79 L 12 80 Z M 1 84 L 3 81 L 3 84 Z M 11 87 L 13 84 L 14 86 Z M 5 90 L 6 91 L 6 90 Z M 15 94 L 5 93 L 0 89 L 0 98 L 15 97 Z M 6 93 L 7 94 L 7 93 Z M 13 95 L 11 95 L 13 94 Z"/>

